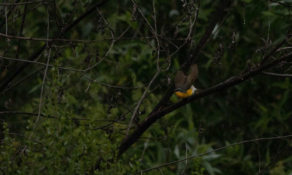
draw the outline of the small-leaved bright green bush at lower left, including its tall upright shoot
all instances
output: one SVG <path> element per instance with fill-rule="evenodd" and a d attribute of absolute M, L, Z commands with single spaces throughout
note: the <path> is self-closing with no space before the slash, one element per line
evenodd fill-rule
<path fill-rule="evenodd" d="M 50 71 L 49 93 L 42 111 L 46 117 L 41 118 L 40 125 L 28 120 L 27 140 L 17 142 L 15 148 L 8 136 L 8 125 L 3 124 L 4 145 L 1 148 L 5 151 L 1 152 L 2 171 L 6 174 L 91 174 L 91 166 L 101 161 L 99 166 L 103 171 L 97 170 L 94 174 L 124 174 L 121 161 L 117 159 L 121 142 L 117 128 L 108 130 L 108 133 L 95 131 L 96 116 L 88 118 L 86 123 L 72 120 L 75 115 L 68 110 L 71 101 L 67 94 L 61 93 L 58 71 L 56 67 Z M 19 153 L 13 156 L 18 150 Z"/>

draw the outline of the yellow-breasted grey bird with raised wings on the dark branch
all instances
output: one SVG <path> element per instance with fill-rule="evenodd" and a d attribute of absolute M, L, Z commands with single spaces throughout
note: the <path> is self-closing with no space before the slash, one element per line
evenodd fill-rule
<path fill-rule="evenodd" d="M 199 74 L 197 64 L 191 66 L 191 71 L 188 76 L 185 76 L 183 71 L 178 71 L 175 74 L 174 83 L 175 83 L 175 94 L 179 98 L 187 98 L 194 94 L 194 92 L 199 93 L 202 90 L 195 88 L 192 84 L 196 80 Z"/>

